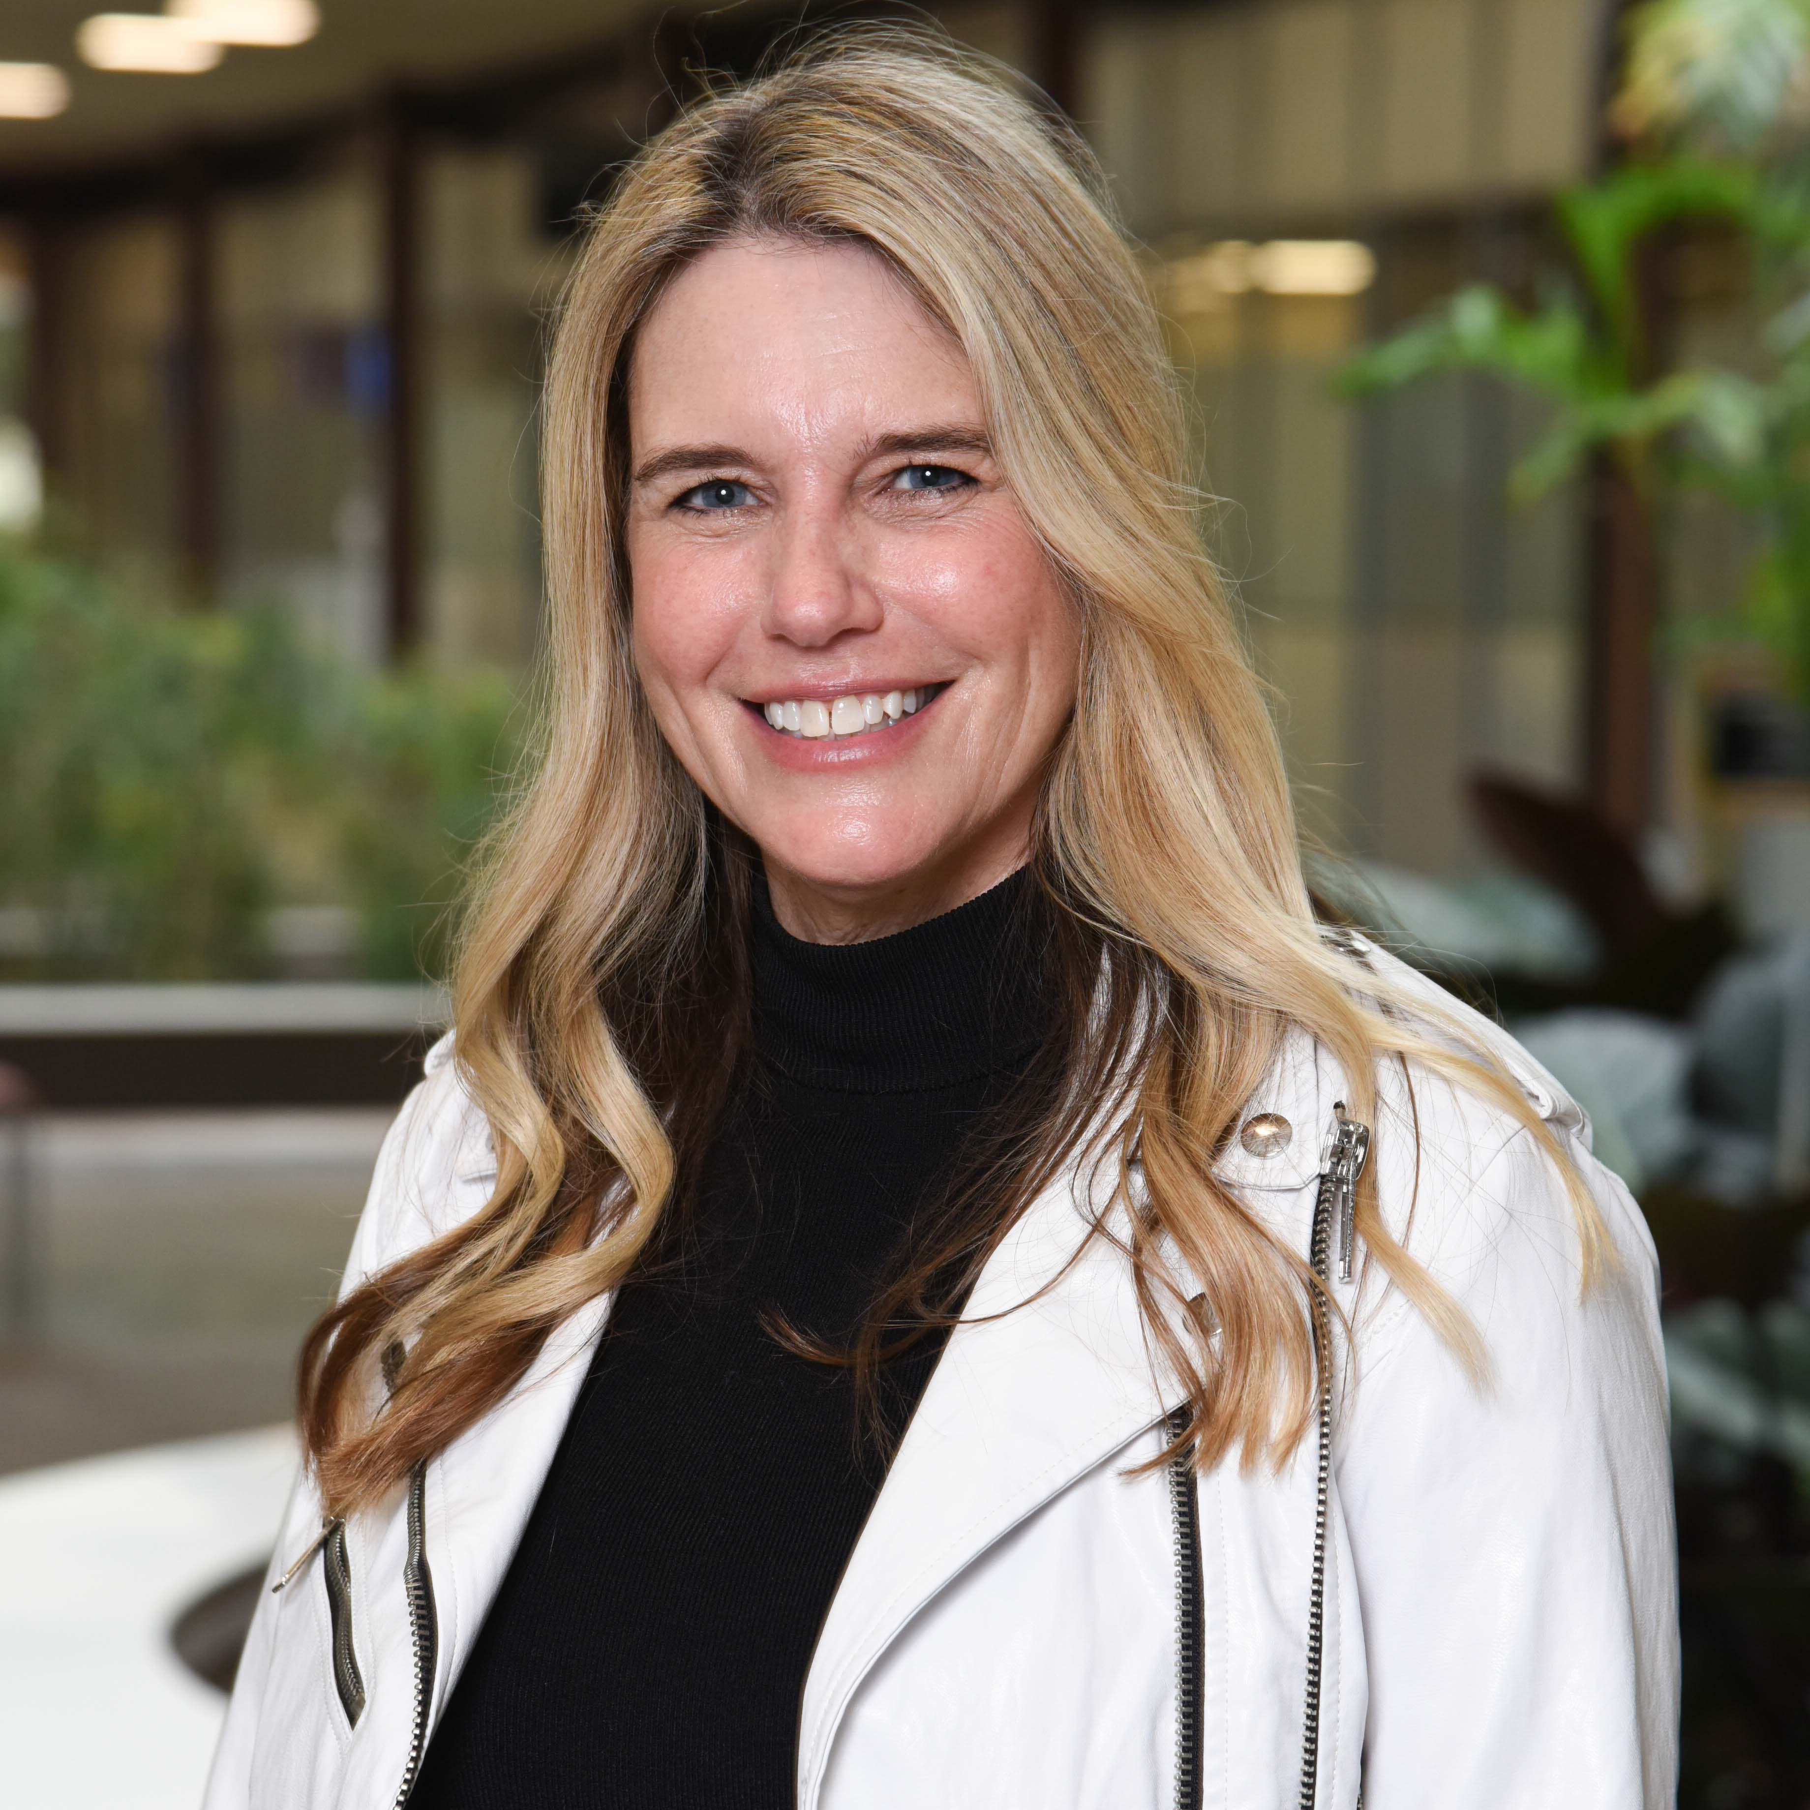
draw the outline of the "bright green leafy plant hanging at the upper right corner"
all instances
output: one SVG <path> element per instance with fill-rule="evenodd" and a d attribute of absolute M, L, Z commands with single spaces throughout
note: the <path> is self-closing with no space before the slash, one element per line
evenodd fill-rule
<path fill-rule="evenodd" d="M 1653 0 L 1629 31 L 1615 114 L 1643 143 L 1557 197 L 1575 281 L 1533 308 L 1466 288 L 1361 353 L 1339 386 L 1365 396 L 1488 371 L 1542 396 L 1551 420 L 1513 471 L 1519 500 L 1598 449 L 1647 507 L 1667 489 L 1727 498 L 1759 545 L 1727 626 L 1768 648 L 1810 702 L 1810 161 L 1794 127 L 1810 0 Z M 1642 261 L 1656 239 L 1703 224 L 1739 239 L 1763 326 L 1739 364 L 1665 367 L 1647 338 Z"/>

